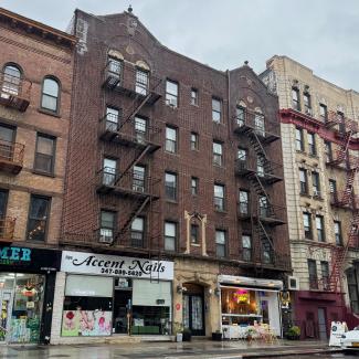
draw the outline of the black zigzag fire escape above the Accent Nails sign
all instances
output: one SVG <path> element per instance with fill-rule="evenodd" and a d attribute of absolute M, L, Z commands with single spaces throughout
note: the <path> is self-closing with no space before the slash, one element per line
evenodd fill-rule
<path fill-rule="evenodd" d="M 159 198 L 159 180 L 150 176 L 149 166 L 144 169 L 139 163 L 160 148 L 156 140 L 160 130 L 152 118 L 138 115 L 142 108 L 151 108 L 160 98 L 157 93 L 160 82 L 149 71 L 114 59 L 108 61 L 105 68 L 103 87 L 127 97 L 130 105 L 117 114 L 107 113 L 101 119 L 99 138 L 123 146 L 126 154 L 131 154 L 131 160 L 122 171 L 104 167 L 97 173 L 97 193 L 119 197 L 122 203 L 127 205 L 127 218 L 117 233 L 110 239 L 99 234 L 102 243 L 139 246 L 135 243 L 136 239 L 130 239 L 131 243 L 124 241 L 133 221 L 149 207 L 147 223 L 152 222 L 149 215 L 152 202 Z"/>

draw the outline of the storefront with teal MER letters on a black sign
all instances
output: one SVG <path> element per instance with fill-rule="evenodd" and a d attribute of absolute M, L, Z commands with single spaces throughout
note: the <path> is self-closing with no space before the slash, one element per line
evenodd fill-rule
<path fill-rule="evenodd" d="M 50 338 L 60 261 L 59 251 L 0 246 L 0 342 Z"/>

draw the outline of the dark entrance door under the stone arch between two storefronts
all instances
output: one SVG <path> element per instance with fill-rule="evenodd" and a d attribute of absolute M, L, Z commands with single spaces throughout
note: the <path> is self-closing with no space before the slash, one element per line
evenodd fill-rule
<path fill-rule="evenodd" d="M 203 287 L 183 284 L 187 293 L 183 295 L 183 327 L 189 328 L 192 336 L 204 336 Z"/>

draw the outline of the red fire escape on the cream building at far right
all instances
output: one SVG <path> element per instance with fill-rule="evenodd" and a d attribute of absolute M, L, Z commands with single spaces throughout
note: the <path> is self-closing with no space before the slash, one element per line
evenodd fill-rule
<path fill-rule="evenodd" d="M 342 245 L 335 245 L 331 249 L 331 273 L 328 279 L 328 289 L 336 293 L 341 293 L 340 277 L 344 273 L 345 263 L 350 247 L 358 246 L 359 233 L 359 208 L 357 205 L 353 193 L 353 181 L 359 169 L 359 158 L 350 156 L 348 147 L 350 139 L 358 133 L 357 124 L 346 119 L 342 115 L 329 113 L 326 123 L 329 128 L 335 129 L 335 135 L 340 140 L 338 150 L 331 155 L 327 154 L 327 165 L 340 167 L 346 170 L 346 184 L 342 191 L 331 189 L 331 204 L 338 208 L 349 209 L 352 211 L 352 219 L 348 228 L 348 239 Z"/>

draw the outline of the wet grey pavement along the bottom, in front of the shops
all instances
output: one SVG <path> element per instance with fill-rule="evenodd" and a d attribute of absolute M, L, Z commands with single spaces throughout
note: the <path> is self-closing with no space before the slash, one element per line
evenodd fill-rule
<path fill-rule="evenodd" d="M 0 358 L 78 358 L 78 359 L 209 359 L 209 358 L 264 358 L 272 356 L 294 356 L 297 353 L 321 353 L 338 349 L 328 348 L 323 341 L 279 340 L 275 345 L 245 340 L 190 342 L 136 342 L 120 345 L 66 345 L 66 346 L 9 346 L 0 347 Z"/>

